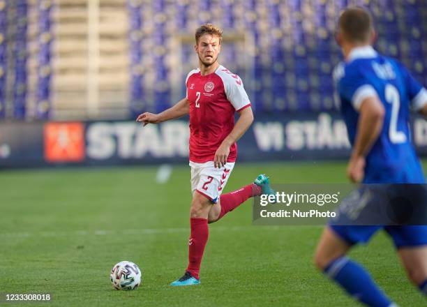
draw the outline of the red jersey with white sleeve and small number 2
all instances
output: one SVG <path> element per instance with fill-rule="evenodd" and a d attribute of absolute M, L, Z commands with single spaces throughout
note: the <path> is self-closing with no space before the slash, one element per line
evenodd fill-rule
<path fill-rule="evenodd" d="M 190 161 L 213 161 L 216 150 L 234 128 L 234 112 L 250 106 L 248 94 L 238 75 L 224 66 L 202 76 L 191 70 L 186 79 L 190 102 Z M 230 147 L 227 162 L 237 157 L 237 145 Z"/>

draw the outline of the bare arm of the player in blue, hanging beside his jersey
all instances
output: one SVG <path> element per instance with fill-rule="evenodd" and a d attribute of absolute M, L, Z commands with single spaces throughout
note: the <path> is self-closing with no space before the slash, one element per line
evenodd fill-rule
<path fill-rule="evenodd" d="M 380 137 L 384 116 L 384 106 L 377 96 L 368 96 L 361 101 L 356 139 L 347 167 L 347 176 L 354 183 L 364 178 L 365 158 Z"/>

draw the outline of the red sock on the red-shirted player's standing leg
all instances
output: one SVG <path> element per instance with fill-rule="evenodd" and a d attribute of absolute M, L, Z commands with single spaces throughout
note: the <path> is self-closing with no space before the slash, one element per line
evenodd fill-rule
<path fill-rule="evenodd" d="M 209 227 L 206 218 L 190 218 L 191 235 L 188 241 L 188 268 L 190 274 L 199 279 L 200 263 L 202 262 L 204 246 L 209 237 Z"/>

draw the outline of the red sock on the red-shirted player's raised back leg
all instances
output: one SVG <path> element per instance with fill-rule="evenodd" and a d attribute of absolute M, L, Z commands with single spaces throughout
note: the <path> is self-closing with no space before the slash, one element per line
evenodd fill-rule
<path fill-rule="evenodd" d="M 261 187 L 256 184 L 249 184 L 248 186 L 244 186 L 239 190 L 235 190 L 233 192 L 221 195 L 220 197 L 220 205 L 221 212 L 218 216 L 218 220 L 225 216 L 227 212 L 232 211 L 233 209 L 239 207 L 241 204 L 246 202 L 249 197 L 261 195 Z"/>

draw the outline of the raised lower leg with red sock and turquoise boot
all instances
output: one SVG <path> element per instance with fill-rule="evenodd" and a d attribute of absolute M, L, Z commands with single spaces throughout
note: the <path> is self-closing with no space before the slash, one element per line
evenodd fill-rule
<path fill-rule="evenodd" d="M 276 194 L 276 191 L 270 186 L 269 177 L 265 174 L 260 174 L 255 181 L 253 181 L 253 184 L 248 184 L 248 186 L 239 188 L 239 190 L 234 190 L 233 192 L 221 195 L 219 204 L 214 205 L 212 210 L 209 212 L 209 223 L 220 220 L 220 218 L 223 218 L 225 214 L 233 211 L 246 202 L 248 198 L 260 196 L 262 194 Z"/>

